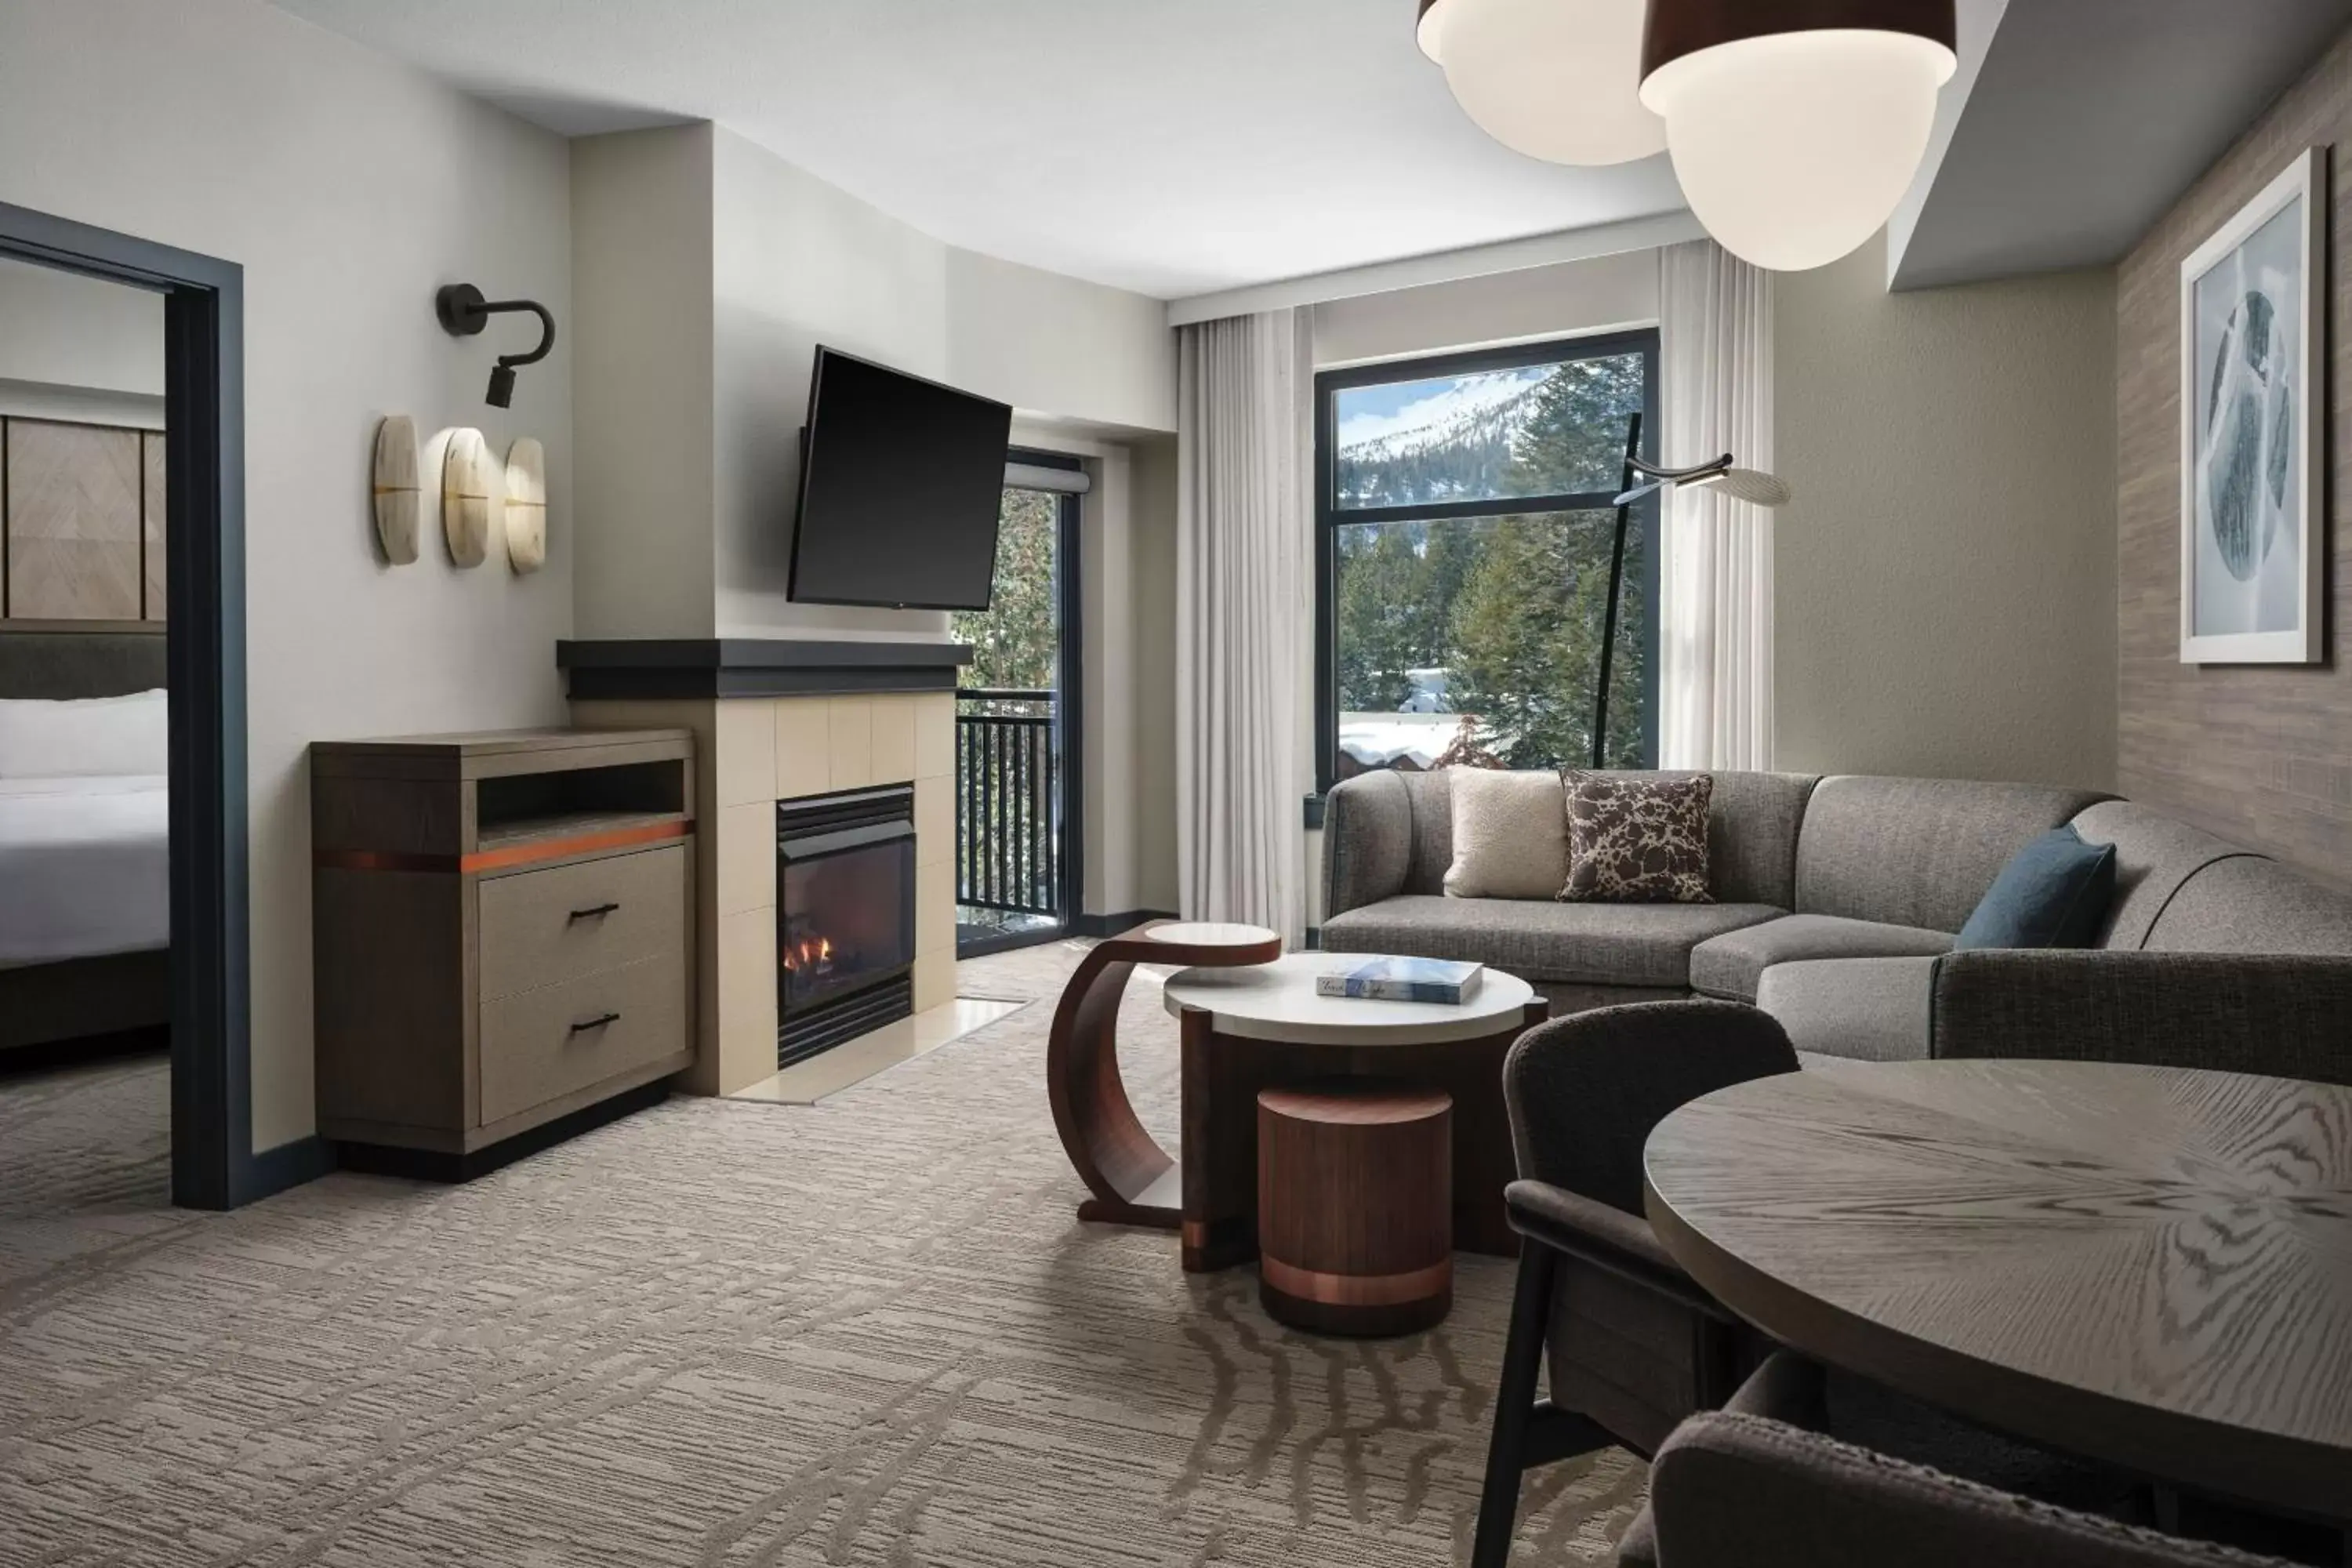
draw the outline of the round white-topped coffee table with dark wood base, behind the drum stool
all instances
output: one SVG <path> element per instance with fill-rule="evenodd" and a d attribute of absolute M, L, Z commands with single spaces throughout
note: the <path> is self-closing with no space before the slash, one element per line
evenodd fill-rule
<path fill-rule="evenodd" d="M 1503 1187 L 1517 1178 L 1503 1056 L 1548 1018 L 1543 997 L 1489 969 L 1458 1006 L 1319 997 L 1315 980 L 1362 952 L 1294 952 L 1251 969 L 1188 969 L 1167 983 L 1183 1041 L 1183 1267 L 1258 1255 L 1258 1091 L 1385 1079 L 1454 1098 L 1454 1246 L 1517 1255 Z M 1367 1084 L 1369 1086 L 1369 1084 Z"/>

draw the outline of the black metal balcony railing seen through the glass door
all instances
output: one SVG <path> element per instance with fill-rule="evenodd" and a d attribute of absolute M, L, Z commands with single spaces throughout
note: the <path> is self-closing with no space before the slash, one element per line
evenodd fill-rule
<path fill-rule="evenodd" d="M 955 900 L 1061 917 L 1061 752 L 1051 691 L 955 693 Z"/>

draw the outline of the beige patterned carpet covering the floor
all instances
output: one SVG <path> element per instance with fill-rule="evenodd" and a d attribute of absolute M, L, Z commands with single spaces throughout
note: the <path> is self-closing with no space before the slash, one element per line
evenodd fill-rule
<path fill-rule="evenodd" d="M 1075 947 L 964 966 L 1054 997 Z M 1136 985 L 1131 1084 L 1174 1112 Z M 1392 1342 L 1077 1225 L 1049 1006 L 818 1107 L 675 1098 L 466 1187 L 165 1208 L 165 1070 L 0 1084 L 0 1563 L 1446 1563 L 1510 1269 Z M 1606 1561 L 1623 1453 L 1522 1563 Z"/>

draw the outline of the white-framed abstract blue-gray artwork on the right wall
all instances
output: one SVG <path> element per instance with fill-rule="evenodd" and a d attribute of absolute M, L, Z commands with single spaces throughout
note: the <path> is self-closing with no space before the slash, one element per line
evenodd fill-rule
<path fill-rule="evenodd" d="M 2328 155 L 2180 263 L 2180 663 L 2319 663 Z"/>

